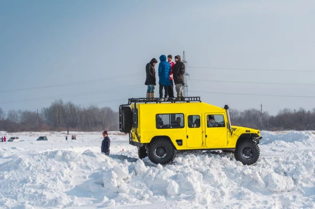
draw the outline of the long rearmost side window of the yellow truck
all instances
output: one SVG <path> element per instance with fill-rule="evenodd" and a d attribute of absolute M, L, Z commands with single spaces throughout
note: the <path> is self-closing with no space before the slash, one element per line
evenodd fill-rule
<path fill-rule="evenodd" d="M 177 114 L 156 114 L 156 128 L 183 128 L 184 115 Z"/>

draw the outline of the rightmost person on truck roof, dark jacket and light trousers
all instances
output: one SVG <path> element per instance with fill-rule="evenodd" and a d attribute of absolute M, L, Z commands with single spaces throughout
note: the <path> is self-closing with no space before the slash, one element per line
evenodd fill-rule
<path fill-rule="evenodd" d="M 182 85 L 184 84 L 184 74 L 185 74 L 185 63 L 180 60 L 180 56 L 175 56 L 175 64 L 173 68 L 173 79 L 175 83 L 175 89 L 177 92 L 177 100 L 181 100 L 182 96 Z"/>

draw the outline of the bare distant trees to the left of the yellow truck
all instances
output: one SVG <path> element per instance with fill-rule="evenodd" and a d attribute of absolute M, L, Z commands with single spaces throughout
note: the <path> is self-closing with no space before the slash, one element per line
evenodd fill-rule
<path fill-rule="evenodd" d="M 0 130 L 17 131 L 100 131 L 119 130 L 118 112 L 110 107 L 80 107 L 62 100 L 37 111 L 0 108 Z"/>

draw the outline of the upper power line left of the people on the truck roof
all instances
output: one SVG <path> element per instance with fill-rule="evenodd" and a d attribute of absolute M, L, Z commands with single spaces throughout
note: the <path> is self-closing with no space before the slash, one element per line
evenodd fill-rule
<path fill-rule="evenodd" d="M 29 87 L 29 88 L 17 88 L 17 89 L 10 89 L 10 90 L 0 90 L 0 93 L 24 91 L 24 90 L 34 90 L 34 89 L 42 89 L 42 88 L 52 88 L 52 87 L 60 87 L 60 86 L 70 86 L 70 85 L 78 85 L 78 84 L 86 84 L 86 83 L 95 83 L 95 82 L 102 82 L 102 81 L 106 81 L 106 80 L 114 80 L 114 79 L 119 79 L 119 78 L 140 76 L 140 75 L 144 75 L 144 74 L 145 73 L 135 73 L 135 74 L 128 74 L 128 75 L 114 76 L 114 77 L 109 77 L 109 78 L 100 78 L 100 79 L 94 79 L 94 80 L 78 81 L 78 82 L 72 82 L 72 83 L 63 83 L 63 84 L 48 85 L 48 86 L 36 86 L 36 87 Z"/>

